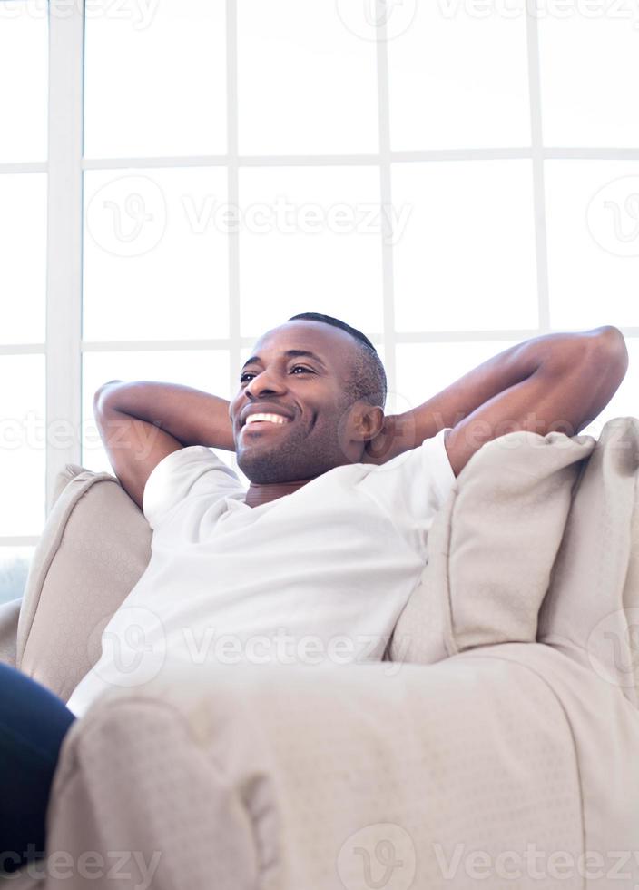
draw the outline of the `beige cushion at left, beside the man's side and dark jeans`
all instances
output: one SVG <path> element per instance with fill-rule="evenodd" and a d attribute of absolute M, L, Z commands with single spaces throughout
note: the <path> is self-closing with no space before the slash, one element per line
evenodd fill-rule
<path fill-rule="evenodd" d="M 17 667 L 66 701 L 100 656 L 103 628 L 151 557 L 151 529 L 109 473 L 68 464 L 35 548 Z"/>

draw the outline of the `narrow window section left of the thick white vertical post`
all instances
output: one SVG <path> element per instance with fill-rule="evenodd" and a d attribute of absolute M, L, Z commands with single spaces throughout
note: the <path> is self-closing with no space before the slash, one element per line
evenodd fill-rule
<path fill-rule="evenodd" d="M 0 2 L 0 601 L 44 525 L 48 27 Z"/>

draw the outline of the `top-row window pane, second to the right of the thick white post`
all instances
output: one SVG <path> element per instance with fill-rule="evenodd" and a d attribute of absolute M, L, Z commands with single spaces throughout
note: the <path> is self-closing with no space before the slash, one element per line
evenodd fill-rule
<path fill-rule="evenodd" d="M 240 0 L 238 44 L 242 154 L 378 151 L 375 44 L 336 4 Z"/>

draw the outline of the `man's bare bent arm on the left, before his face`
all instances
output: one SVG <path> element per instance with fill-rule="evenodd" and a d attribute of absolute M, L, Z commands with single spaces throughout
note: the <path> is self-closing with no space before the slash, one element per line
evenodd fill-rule
<path fill-rule="evenodd" d="M 178 383 L 109 381 L 93 412 L 115 475 L 140 509 L 146 480 L 172 451 L 235 448 L 229 402 Z"/>

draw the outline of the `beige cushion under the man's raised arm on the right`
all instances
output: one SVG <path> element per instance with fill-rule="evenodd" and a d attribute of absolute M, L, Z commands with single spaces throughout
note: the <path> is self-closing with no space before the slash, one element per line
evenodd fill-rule
<path fill-rule="evenodd" d="M 591 436 L 518 430 L 459 473 L 428 535 L 421 584 L 398 618 L 393 661 L 535 642 L 539 609 Z"/>

